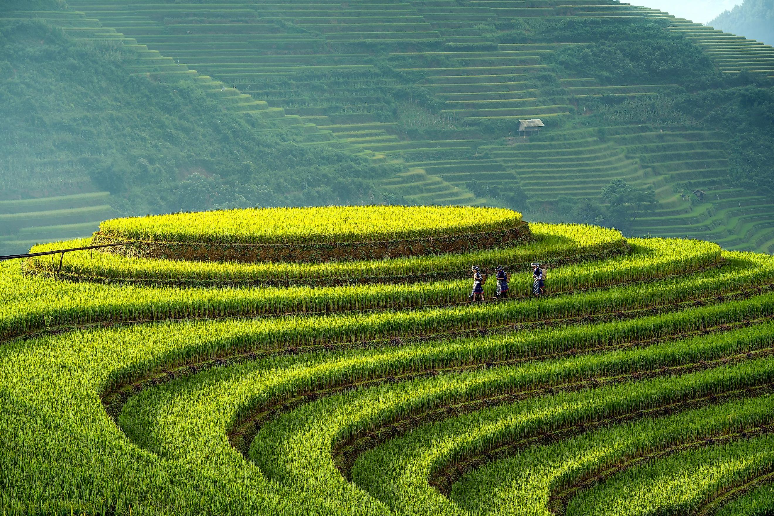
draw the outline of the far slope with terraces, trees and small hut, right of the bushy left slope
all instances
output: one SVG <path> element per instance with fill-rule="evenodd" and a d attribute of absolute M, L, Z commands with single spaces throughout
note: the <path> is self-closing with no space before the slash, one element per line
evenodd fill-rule
<path fill-rule="evenodd" d="M 69 4 L 344 145 L 402 159 L 409 173 L 384 186 L 408 202 L 475 196 L 628 234 L 774 243 L 770 46 L 586 0 Z M 546 130 L 511 138 L 525 118 Z M 729 118 L 743 130 L 724 134 Z M 613 217 L 600 196 L 612 179 L 652 188 L 656 210 Z"/>

